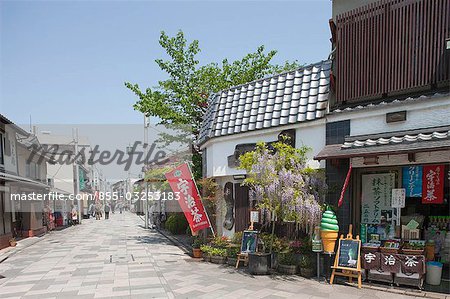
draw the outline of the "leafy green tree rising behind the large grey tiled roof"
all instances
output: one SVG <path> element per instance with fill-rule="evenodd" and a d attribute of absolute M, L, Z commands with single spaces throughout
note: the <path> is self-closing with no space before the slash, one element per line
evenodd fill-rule
<path fill-rule="evenodd" d="M 200 65 L 196 56 L 200 52 L 197 40 L 188 43 L 183 31 L 170 37 L 161 32 L 159 44 L 169 59 L 156 59 L 158 66 L 167 73 L 168 78 L 158 82 L 155 88 L 142 90 L 138 84 L 125 83 L 138 100 L 134 109 L 148 116 L 157 117 L 165 126 L 189 125 L 193 134 L 186 138 L 195 141 L 200 131 L 203 114 L 207 108 L 208 97 L 213 92 L 244 84 L 264 76 L 298 68 L 297 61 L 284 65 L 271 64 L 276 51 L 266 52 L 260 46 L 242 59 L 221 64 Z M 163 136 L 170 143 L 170 136 Z M 201 159 L 194 149 L 194 176 L 201 177 Z"/>

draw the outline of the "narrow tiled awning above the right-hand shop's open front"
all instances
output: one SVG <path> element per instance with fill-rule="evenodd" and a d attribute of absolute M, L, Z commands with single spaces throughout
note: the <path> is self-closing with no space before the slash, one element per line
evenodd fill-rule
<path fill-rule="evenodd" d="M 450 126 L 346 137 L 343 144 L 325 146 L 314 159 L 394 155 L 450 149 Z"/>

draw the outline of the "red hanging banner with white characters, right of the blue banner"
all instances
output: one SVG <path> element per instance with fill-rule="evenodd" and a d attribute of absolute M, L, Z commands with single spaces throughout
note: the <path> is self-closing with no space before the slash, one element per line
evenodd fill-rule
<path fill-rule="evenodd" d="M 444 166 L 427 165 L 422 173 L 422 203 L 444 203 Z"/>

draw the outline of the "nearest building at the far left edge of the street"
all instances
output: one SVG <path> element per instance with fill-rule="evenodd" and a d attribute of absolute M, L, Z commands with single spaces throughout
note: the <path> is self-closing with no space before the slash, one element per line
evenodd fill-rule
<path fill-rule="evenodd" d="M 50 190 L 47 185 L 48 158 L 33 155 L 33 145 L 39 145 L 36 136 L 0 115 L 0 248 L 9 246 L 12 237 L 45 233 L 44 201 L 15 197 L 46 194 Z"/>

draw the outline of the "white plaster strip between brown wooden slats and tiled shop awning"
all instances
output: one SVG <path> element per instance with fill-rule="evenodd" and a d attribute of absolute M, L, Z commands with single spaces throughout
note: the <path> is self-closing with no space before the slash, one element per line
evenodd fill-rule
<path fill-rule="evenodd" d="M 406 110 L 406 121 L 386 123 L 386 113 Z M 450 125 L 450 96 L 431 97 L 401 105 L 334 113 L 328 122 L 351 119 L 350 135 L 378 134 Z"/>

